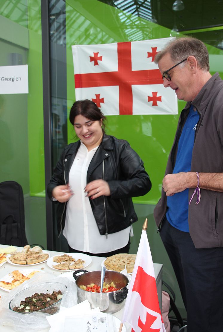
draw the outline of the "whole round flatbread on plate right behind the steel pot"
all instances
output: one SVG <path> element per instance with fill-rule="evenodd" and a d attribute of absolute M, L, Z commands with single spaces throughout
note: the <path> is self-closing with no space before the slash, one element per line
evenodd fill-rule
<path fill-rule="evenodd" d="M 133 268 L 135 265 L 136 254 L 116 254 L 108 257 L 104 261 L 104 265 L 108 270 L 121 272 L 126 269 L 128 273 L 133 272 Z"/>

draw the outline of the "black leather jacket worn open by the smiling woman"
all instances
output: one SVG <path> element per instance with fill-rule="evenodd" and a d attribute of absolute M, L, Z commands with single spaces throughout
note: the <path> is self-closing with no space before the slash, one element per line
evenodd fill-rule
<path fill-rule="evenodd" d="M 80 141 L 67 145 L 57 162 L 48 184 L 47 193 L 68 183 L 70 167 L 80 146 Z M 149 175 L 143 161 L 126 140 L 103 135 L 87 171 L 87 183 L 103 179 L 110 187 L 110 196 L 90 200 L 91 208 L 101 235 L 115 233 L 137 221 L 132 197 L 143 196 L 151 189 Z M 65 224 L 66 203 L 57 204 L 57 227 L 60 235 Z"/>

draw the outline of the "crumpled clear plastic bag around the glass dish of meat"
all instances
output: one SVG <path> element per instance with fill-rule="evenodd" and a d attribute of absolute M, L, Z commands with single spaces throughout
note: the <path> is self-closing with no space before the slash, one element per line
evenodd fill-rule
<path fill-rule="evenodd" d="M 20 291 L 41 283 L 58 282 L 66 285 L 66 291 L 61 300 L 61 306 L 69 308 L 77 304 L 77 291 L 74 282 L 66 277 L 57 277 L 49 273 L 36 273 L 31 279 L 11 290 L 7 295 L 2 295 L 0 300 L 0 324 L 11 326 L 15 331 L 40 331 L 50 328 L 46 319 L 48 313 L 32 312 L 29 314 L 17 313 L 9 309 L 9 302 Z"/>

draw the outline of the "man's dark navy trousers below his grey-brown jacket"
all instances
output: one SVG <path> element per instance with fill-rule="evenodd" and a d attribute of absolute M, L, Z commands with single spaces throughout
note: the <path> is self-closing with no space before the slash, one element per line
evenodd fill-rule
<path fill-rule="evenodd" d="M 223 247 L 196 249 L 190 234 L 166 218 L 160 236 L 187 311 L 187 332 L 223 331 Z"/>

